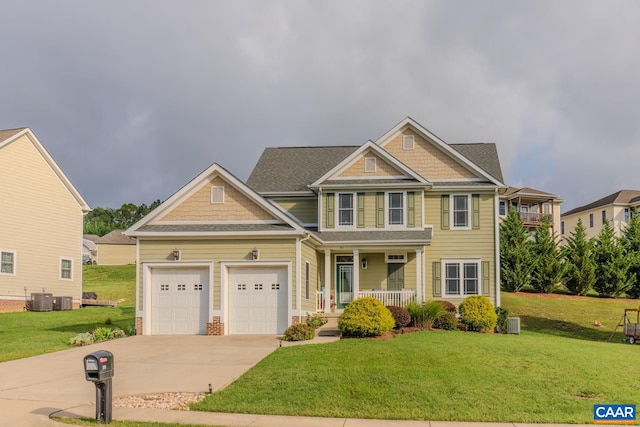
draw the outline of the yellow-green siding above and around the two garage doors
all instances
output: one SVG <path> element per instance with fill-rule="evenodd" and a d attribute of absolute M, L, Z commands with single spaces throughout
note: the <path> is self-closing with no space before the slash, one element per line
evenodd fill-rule
<path fill-rule="evenodd" d="M 140 246 L 140 263 L 168 262 L 173 259 L 174 248 L 180 250 L 182 262 L 213 261 L 213 308 L 221 309 L 220 303 L 220 262 L 251 261 L 251 250 L 255 247 L 260 251 L 260 261 L 289 261 L 292 262 L 292 278 L 289 283 L 293 290 L 292 298 L 295 304 L 295 239 L 259 240 L 143 240 Z M 179 265 L 179 263 L 176 263 Z M 142 269 L 139 269 L 142 270 Z M 142 271 L 138 282 L 142 283 Z M 142 295 L 138 299 L 138 307 L 143 307 Z"/>

